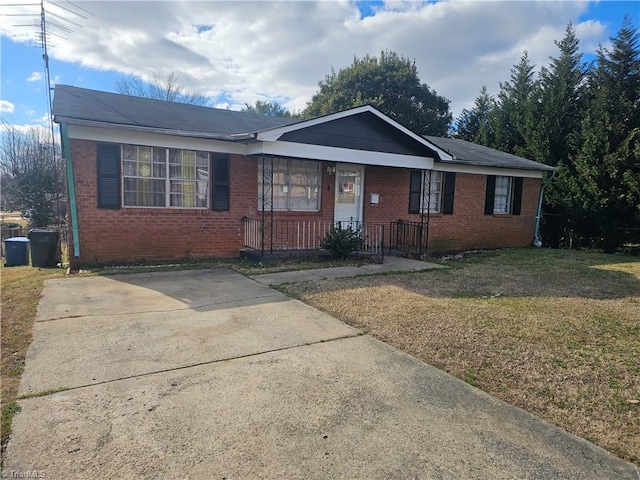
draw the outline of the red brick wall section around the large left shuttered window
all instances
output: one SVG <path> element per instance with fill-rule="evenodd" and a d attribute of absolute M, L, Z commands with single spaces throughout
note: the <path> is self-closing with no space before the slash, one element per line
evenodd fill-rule
<path fill-rule="evenodd" d="M 80 257 L 73 264 L 186 257 L 235 257 L 243 245 L 242 217 L 255 216 L 257 161 L 231 156 L 231 205 L 226 212 L 97 207 L 96 143 L 71 141 Z M 71 238 L 71 232 L 69 232 Z M 71 243 L 71 242 L 70 242 Z"/>

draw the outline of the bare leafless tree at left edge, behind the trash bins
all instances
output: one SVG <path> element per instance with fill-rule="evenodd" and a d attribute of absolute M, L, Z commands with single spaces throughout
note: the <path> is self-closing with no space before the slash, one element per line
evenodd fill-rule
<path fill-rule="evenodd" d="M 9 128 L 2 133 L 2 208 L 21 212 L 31 226 L 49 225 L 54 204 L 63 195 L 64 168 L 57 147 L 50 133 L 37 127 L 27 132 Z"/>

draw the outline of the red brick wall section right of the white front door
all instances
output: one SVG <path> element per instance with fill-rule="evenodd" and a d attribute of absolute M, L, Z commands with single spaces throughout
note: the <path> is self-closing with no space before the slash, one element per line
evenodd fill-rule
<path fill-rule="evenodd" d="M 398 219 L 420 221 L 409 214 L 408 169 L 367 167 L 364 221 L 383 223 L 385 229 Z M 540 193 L 540 179 L 525 178 L 521 215 L 485 215 L 486 175 L 456 174 L 452 215 L 429 216 L 429 251 L 473 248 L 523 247 L 531 245 Z M 380 203 L 371 205 L 369 194 L 379 193 Z"/>

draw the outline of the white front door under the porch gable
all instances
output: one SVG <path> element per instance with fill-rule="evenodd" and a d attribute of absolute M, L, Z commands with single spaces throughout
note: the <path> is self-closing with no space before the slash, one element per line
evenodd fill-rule
<path fill-rule="evenodd" d="M 336 165 L 335 222 L 362 221 L 364 165 L 338 163 Z"/>

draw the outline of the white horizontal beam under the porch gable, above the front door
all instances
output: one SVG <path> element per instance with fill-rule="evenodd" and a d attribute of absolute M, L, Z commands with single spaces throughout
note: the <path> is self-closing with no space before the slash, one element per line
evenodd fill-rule
<path fill-rule="evenodd" d="M 324 147 L 293 142 L 264 142 L 245 145 L 245 155 L 277 155 L 308 158 L 328 162 L 357 163 L 381 167 L 416 168 L 431 170 L 433 158 L 400 155 L 396 153 L 368 152 L 349 148 Z"/>

